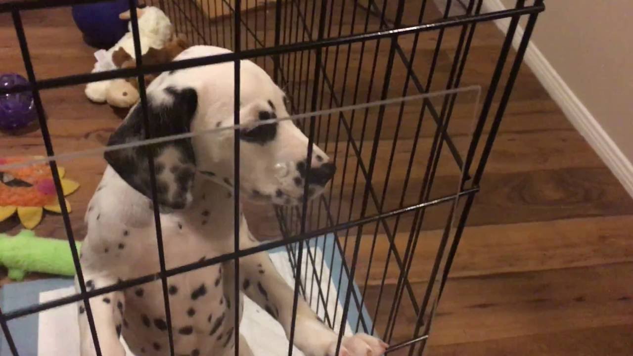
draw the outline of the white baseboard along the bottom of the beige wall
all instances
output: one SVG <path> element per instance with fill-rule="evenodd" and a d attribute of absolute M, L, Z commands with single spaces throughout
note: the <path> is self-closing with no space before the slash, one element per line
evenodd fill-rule
<path fill-rule="evenodd" d="M 484 0 L 483 12 L 506 10 L 499 0 Z M 510 19 L 495 21 L 497 27 L 503 32 L 508 32 Z M 538 23 L 538 22 L 537 22 Z M 523 37 L 523 28 L 519 25 L 513 39 L 514 48 L 518 48 L 520 39 Z M 587 143 L 598 153 L 598 156 L 605 162 L 611 172 L 617 177 L 622 186 L 633 196 L 633 163 L 631 163 L 624 153 L 618 148 L 613 139 L 605 132 L 598 120 L 589 112 L 586 106 L 567 86 L 555 68 L 549 63 L 547 58 L 539 51 L 539 48 L 530 42 L 525 51 L 525 64 L 530 67 L 539 82 L 549 93 L 549 96 L 560 106 L 567 119 L 572 123 L 578 132 L 586 139 Z"/>

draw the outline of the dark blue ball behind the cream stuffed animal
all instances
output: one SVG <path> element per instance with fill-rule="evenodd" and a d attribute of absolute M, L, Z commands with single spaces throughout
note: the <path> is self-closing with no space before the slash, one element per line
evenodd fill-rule
<path fill-rule="evenodd" d="M 73 20 L 84 34 L 84 41 L 98 48 L 114 46 L 127 32 L 127 21 L 118 16 L 130 10 L 129 4 L 128 0 L 115 0 L 73 6 Z"/>

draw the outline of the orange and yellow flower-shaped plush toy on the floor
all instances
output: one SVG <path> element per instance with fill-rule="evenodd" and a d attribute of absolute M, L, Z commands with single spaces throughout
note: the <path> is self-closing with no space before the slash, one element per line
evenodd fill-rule
<path fill-rule="evenodd" d="M 42 220 L 43 210 L 61 213 L 51 168 L 46 163 L 37 163 L 18 168 L 3 168 L 3 165 L 28 163 L 41 158 L 32 156 L 0 158 L 0 222 L 16 212 L 22 225 L 33 229 Z M 64 168 L 58 167 L 64 196 L 74 193 L 79 183 L 64 179 Z M 66 200 L 66 209 L 70 204 Z"/>

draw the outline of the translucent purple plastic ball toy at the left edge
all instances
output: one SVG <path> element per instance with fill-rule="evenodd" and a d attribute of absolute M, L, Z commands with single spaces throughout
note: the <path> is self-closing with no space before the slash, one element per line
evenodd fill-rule
<path fill-rule="evenodd" d="M 0 87 L 8 89 L 19 84 L 28 84 L 28 81 L 16 73 L 0 75 Z M 0 95 L 0 129 L 22 129 L 36 117 L 33 95 L 30 92 Z"/>

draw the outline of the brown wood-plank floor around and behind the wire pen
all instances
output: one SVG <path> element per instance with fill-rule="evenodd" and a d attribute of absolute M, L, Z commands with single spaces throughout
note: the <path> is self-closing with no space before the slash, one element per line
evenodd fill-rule
<path fill-rule="evenodd" d="M 337 35 L 339 20 L 344 29 L 349 30 L 351 27 L 349 18 L 342 16 L 341 19 L 338 15 L 341 4 L 336 3 L 335 6 L 337 11 L 328 27 L 332 36 Z M 387 10 L 392 13 L 389 12 L 393 11 L 391 5 Z M 348 8 L 347 11 L 349 13 L 351 9 Z M 365 18 L 365 13 L 358 11 L 357 16 Z M 413 23 L 416 15 L 413 11 L 407 11 L 403 21 Z M 266 37 L 270 45 L 274 24 L 268 18 L 264 27 L 261 11 L 252 13 L 251 16 L 259 16 L 258 34 Z M 439 16 L 439 11 L 429 5 L 425 21 Z M 247 21 L 253 20 L 254 18 L 248 18 Z M 50 78 L 91 70 L 94 49 L 81 41 L 81 35 L 72 23 L 68 8 L 27 11 L 23 13 L 23 22 L 37 77 Z M 370 29 L 375 29 L 377 23 L 376 19 L 370 18 Z M 220 25 L 222 23 L 210 23 L 210 28 L 216 29 Z M 360 31 L 362 25 L 356 23 L 354 29 Z M 291 32 L 290 35 L 294 42 L 296 33 Z M 428 74 L 437 35 L 420 35 L 413 67 L 424 80 Z M 447 30 L 444 34 L 432 90 L 442 89 L 448 78 L 458 36 L 458 29 Z M 211 38 L 214 38 L 213 35 Z M 298 41 L 301 41 L 301 36 Z M 502 41 L 503 36 L 492 23 L 481 23 L 477 27 L 461 86 L 480 85 L 482 90 L 487 90 Z M 399 44 L 409 54 L 413 36 L 403 37 Z M 368 42 L 365 50 L 369 54 L 363 63 L 358 60 L 360 49 L 360 44 L 349 49 L 342 47 L 339 53 L 340 58 L 346 58 L 348 53 L 353 58 L 349 64 L 349 78 L 342 80 L 339 72 L 333 83 L 335 92 L 340 93 L 343 89 L 348 92 L 348 96 L 343 99 L 345 104 L 353 102 L 351 92 L 356 73 L 361 73 L 358 102 L 380 96 L 389 53 L 388 41 L 383 41 L 379 48 L 375 42 Z M 372 65 L 375 51 L 378 51 L 379 56 L 376 64 Z M 325 67 L 327 73 L 332 75 L 336 67 L 334 49 L 328 55 L 330 60 Z M 310 54 L 306 54 L 306 59 L 308 56 Z M 289 56 L 284 60 L 292 63 L 293 58 Z M 270 59 L 262 59 L 260 62 L 266 62 L 267 69 L 270 69 Z M 3 72 L 24 73 L 15 31 L 10 16 L 6 14 L 0 15 L 0 63 Z M 370 75 L 373 67 L 379 68 L 374 73 L 375 78 Z M 310 107 L 311 89 L 308 88 L 311 88 L 313 81 L 298 73 L 298 77 L 295 77 L 289 68 L 284 72 L 291 79 L 288 91 L 299 98 L 301 108 Z M 507 72 L 506 68 L 505 73 Z M 390 97 L 401 96 L 405 77 L 406 69 L 396 61 L 389 88 Z M 373 91 L 368 89 L 372 79 L 375 81 Z M 303 90 L 308 92 L 304 93 Z M 415 93 L 411 86 L 408 94 Z M 307 94 L 308 101 L 303 101 L 300 94 Z M 329 96 L 324 98 L 324 106 L 327 106 Z M 495 98 L 493 110 L 496 109 L 498 99 Z M 57 154 L 103 146 L 120 123 L 122 115 L 106 105 L 89 103 L 84 96 L 83 86 L 42 91 L 42 100 Z M 441 99 L 439 101 L 441 103 Z M 460 152 L 463 152 L 470 142 L 472 130 L 472 116 L 467 115 L 467 109 L 472 108 L 474 102 L 472 98 L 465 98 L 458 101 L 458 104 L 449 133 Z M 387 177 L 389 179 L 385 190 L 385 207 L 398 207 L 403 193 L 419 108 L 420 103 L 405 107 L 403 117 L 406 120 L 401 125 L 391 170 L 387 170 L 387 163 L 392 139 L 396 137 L 396 125 L 395 120 L 385 120 L 377 151 L 377 174 L 373 179 L 379 198 L 382 197 L 381 192 Z M 387 117 L 396 117 L 397 114 L 397 110 L 392 108 L 385 112 Z M 375 113 L 372 111 L 367 132 L 373 132 L 375 123 Z M 334 119 L 327 126 L 320 126 L 318 132 L 322 143 L 326 137 L 329 140 L 327 151 L 332 155 L 337 153 L 339 174 L 332 186 L 335 193 L 342 191 L 344 194 L 342 198 L 334 194 L 332 201 L 335 209 L 341 206 L 341 222 L 344 222 L 348 219 L 348 213 L 351 213 L 351 217 L 359 213 L 364 181 L 360 180 L 360 188 L 351 193 L 357 160 L 353 153 L 346 153 L 343 144 L 347 137 L 339 137 L 341 146 L 334 146 L 337 139 L 334 134 L 336 124 L 337 120 Z M 329 131 L 326 130 L 327 127 L 330 127 Z M 370 159 L 368 148 L 371 147 L 373 136 L 368 134 L 361 140 L 360 125 L 356 125 L 352 131 L 354 140 L 358 143 L 362 141 L 365 146 L 361 156 L 367 164 Z M 415 188 L 419 188 L 423 179 L 434 124 L 426 120 L 421 132 L 413 164 L 415 168 L 411 171 L 411 184 L 403 194 L 405 203 L 417 201 Z M 486 139 L 487 132 L 488 127 L 484 130 L 482 139 Z M 2 155 L 42 155 L 45 151 L 41 133 L 39 130 L 31 130 L 19 136 L 0 134 L 0 152 Z M 348 164 L 353 166 L 344 167 L 345 157 L 350 160 Z M 96 155 L 74 158 L 60 162 L 60 165 L 66 168 L 69 178 L 82 184 L 77 193 L 69 198 L 73 206 L 70 214 L 73 232 L 77 238 L 82 238 L 85 234 L 85 208 L 101 179 L 105 163 L 100 155 Z M 346 172 L 348 176 L 344 182 L 342 172 Z M 432 196 L 454 193 L 458 184 L 456 172 L 451 157 L 446 150 L 443 151 Z M 369 212 L 375 210 L 376 207 L 369 208 Z M 425 216 L 420 242 L 409 271 L 411 289 L 418 303 L 429 280 L 447 212 L 448 205 L 442 205 L 429 209 Z M 248 215 L 251 217 L 249 225 L 258 238 L 279 238 L 279 227 L 272 209 L 249 206 Z M 394 220 L 388 219 L 386 222 L 390 229 L 395 224 Z M 396 233 L 395 243 L 400 256 L 403 255 L 409 239 L 412 222 L 411 214 L 399 219 L 400 228 Z M 312 227 L 315 228 L 316 224 Z M 18 229 L 16 220 L 0 224 L 0 232 L 15 233 Z M 370 314 L 373 316 L 374 310 L 379 310 L 376 324 L 382 333 L 400 270 L 394 258 L 391 258 L 384 279 L 384 295 L 379 304 L 380 284 L 387 265 L 388 241 L 384 227 L 379 226 L 375 251 L 370 255 L 370 235 L 373 235 L 374 229 L 375 224 L 363 229 L 356 283 L 361 290 L 365 290 L 365 302 Z M 40 236 L 66 236 L 61 217 L 54 214 L 47 214 L 35 231 Z M 632 231 L 633 200 L 582 136 L 569 124 L 536 77 L 524 66 L 496 138 L 481 192 L 471 210 L 468 227 L 434 319 L 427 354 L 633 354 Z M 351 236 L 355 236 L 355 233 Z M 353 246 L 354 242 L 354 238 L 349 238 L 348 246 Z M 348 262 L 352 256 L 352 249 L 348 247 Z M 5 270 L 0 271 L 0 276 L 0 285 L 8 283 Z M 30 276 L 32 279 L 39 277 L 42 276 Z M 410 302 L 404 302 L 394 329 L 394 343 L 411 338 L 415 318 Z M 402 354 L 403 351 L 397 353 Z"/>

